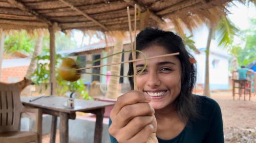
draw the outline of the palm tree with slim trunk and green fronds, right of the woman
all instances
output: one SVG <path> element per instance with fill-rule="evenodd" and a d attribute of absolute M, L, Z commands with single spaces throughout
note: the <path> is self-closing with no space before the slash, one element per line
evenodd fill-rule
<path fill-rule="evenodd" d="M 238 32 L 238 28 L 226 17 L 222 16 L 221 21 L 218 23 L 217 27 L 214 28 L 210 24 L 209 35 L 207 40 L 207 46 L 205 51 L 205 82 L 203 94 L 210 96 L 209 92 L 209 53 L 210 53 L 210 43 L 212 36 L 215 34 L 218 36 L 218 45 L 227 48 L 231 45 L 233 36 Z"/>

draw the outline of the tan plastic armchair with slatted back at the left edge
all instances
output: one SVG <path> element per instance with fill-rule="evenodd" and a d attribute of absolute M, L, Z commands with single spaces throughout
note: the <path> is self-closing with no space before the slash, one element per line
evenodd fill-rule
<path fill-rule="evenodd" d="M 0 143 L 41 142 L 42 111 L 25 108 L 18 84 L 0 83 Z M 20 131 L 22 112 L 35 113 L 35 132 Z"/>

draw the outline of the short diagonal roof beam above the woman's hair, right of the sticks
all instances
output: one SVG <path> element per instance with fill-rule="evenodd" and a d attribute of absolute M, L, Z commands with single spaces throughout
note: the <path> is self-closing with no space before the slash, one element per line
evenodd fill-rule
<path fill-rule="evenodd" d="M 144 12 L 144 11 L 147 10 L 144 6 L 141 6 L 139 3 L 137 3 L 137 2 L 134 1 L 134 0 L 123 0 L 123 1 L 126 2 L 126 3 L 128 3 L 129 5 L 131 5 L 131 6 L 133 6 L 133 7 L 134 7 L 134 5 L 136 4 L 137 7 L 138 7 L 138 9 L 139 9 L 141 12 Z M 155 14 L 154 12 L 152 12 L 151 10 L 150 10 L 150 16 L 151 16 L 152 19 L 154 19 L 154 20 L 157 21 L 158 23 L 163 23 L 163 22 L 164 22 L 164 20 L 163 20 L 160 16 L 158 16 L 157 14 Z"/>

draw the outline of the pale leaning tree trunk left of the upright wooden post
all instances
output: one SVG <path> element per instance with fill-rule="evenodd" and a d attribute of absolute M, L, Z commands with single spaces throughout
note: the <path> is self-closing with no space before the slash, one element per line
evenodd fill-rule
<path fill-rule="evenodd" d="M 26 73 L 26 78 L 30 79 L 31 75 L 34 73 L 35 68 L 36 68 L 36 57 L 41 54 L 41 50 L 42 50 L 42 38 L 44 38 L 44 33 L 40 32 L 38 33 L 38 37 L 36 39 L 36 44 L 35 44 L 35 49 L 32 55 L 32 59 L 28 68 L 28 71 Z"/>

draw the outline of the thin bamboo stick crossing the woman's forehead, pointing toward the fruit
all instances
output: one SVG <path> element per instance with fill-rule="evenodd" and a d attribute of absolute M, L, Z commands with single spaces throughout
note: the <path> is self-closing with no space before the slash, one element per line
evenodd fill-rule
<path fill-rule="evenodd" d="M 173 55 L 178 55 L 178 54 L 180 54 L 180 53 L 179 53 L 179 52 L 175 52 L 175 53 L 169 53 L 169 54 L 151 56 L 150 58 L 146 58 L 146 60 L 155 59 L 155 58 L 161 58 L 161 57 L 165 57 L 165 56 L 173 56 Z M 112 65 L 118 65 L 118 64 L 125 64 L 125 63 L 137 62 L 137 61 L 143 61 L 143 60 L 145 60 L 145 59 L 129 60 L 129 61 L 124 61 L 124 62 L 120 62 L 120 63 L 112 63 L 112 64 L 108 64 L 108 65 L 90 66 L 90 67 L 78 68 L 78 69 L 76 69 L 76 70 L 86 70 L 86 69 L 92 69 L 92 68 L 100 68 L 100 67 L 105 67 L 105 66 L 112 66 Z"/>

